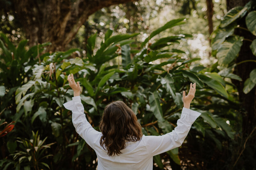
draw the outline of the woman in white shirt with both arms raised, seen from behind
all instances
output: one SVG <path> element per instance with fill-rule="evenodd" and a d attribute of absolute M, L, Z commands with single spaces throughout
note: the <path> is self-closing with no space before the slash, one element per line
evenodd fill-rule
<path fill-rule="evenodd" d="M 81 87 L 79 82 L 75 82 L 73 74 L 68 75 L 68 83 L 74 97 L 63 105 L 73 113 L 76 132 L 96 152 L 99 170 L 152 170 L 153 156 L 179 147 L 192 123 L 201 115 L 189 109 L 196 92 L 196 83 L 191 83 L 187 96 L 183 91 L 184 107 L 172 132 L 162 136 L 142 135 L 136 115 L 122 101 L 111 102 L 105 107 L 99 132 L 86 120 L 80 99 Z"/>

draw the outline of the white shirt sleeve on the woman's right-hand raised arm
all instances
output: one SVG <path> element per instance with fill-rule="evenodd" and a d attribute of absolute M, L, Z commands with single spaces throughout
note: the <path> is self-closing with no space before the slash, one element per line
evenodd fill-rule
<path fill-rule="evenodd" d="M 162 136 L 144 136 L 144 143 L 149 156 L 155 156 L 163 152 L 181 146 L 187 137 L 191 125 L 201 113 L 183 107 L 177 127 L 172 132 Z"/>

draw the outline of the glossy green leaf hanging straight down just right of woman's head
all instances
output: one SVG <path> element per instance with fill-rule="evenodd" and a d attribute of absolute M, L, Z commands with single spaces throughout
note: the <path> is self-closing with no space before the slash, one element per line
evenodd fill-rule
<path fill-rule="evenodd" d="M 149 95 L 150 110 L 153 112 L 158 121 L 164 122 L 163 110 L 159 100 L 160 99 L 157 91 L 154 91 L 152 94 Z"/>

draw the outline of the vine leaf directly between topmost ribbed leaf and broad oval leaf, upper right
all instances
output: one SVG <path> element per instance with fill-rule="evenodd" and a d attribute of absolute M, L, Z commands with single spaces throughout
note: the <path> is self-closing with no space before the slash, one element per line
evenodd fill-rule
<path fill-rule="evenodd" d="M 236 24 L 230 24 L 225 28 L 219 28 L 214 33 L 216 33 L 215 37 L 212 40 L 212 50 L 216 50 L 220 48 L 221 44 L 225 41 L 225 39 L 234 33 Z"/>

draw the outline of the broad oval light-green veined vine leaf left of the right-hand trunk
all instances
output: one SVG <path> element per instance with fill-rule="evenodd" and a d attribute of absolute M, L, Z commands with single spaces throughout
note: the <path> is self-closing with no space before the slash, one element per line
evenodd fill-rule
<path fill-rule="evenodd" d="M 237 35 L 230 36 L 221 44 L 221 47 L 216 54 L 219 65 L 226 66 L 236 58 L 243 44 L 242 39 L 242 37 Z"/>

